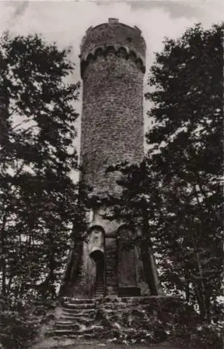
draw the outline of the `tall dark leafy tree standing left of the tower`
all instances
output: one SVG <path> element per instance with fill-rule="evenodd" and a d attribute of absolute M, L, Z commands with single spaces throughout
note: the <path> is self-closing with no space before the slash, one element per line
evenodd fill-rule
<path fill-rule="evenodd" d="M 70 177 L 80 84 L 66 83 L 70 49 L 38 35 L 3 34 L 0 53 L 1 295 L 54 298 L 73 224 L 82 221 Z"/>

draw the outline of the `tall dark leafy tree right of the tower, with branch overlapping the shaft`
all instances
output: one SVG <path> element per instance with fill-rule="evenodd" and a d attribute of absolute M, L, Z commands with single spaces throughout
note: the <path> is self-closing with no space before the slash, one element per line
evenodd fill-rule
<path fill-rule="evenodd" d="M 123 195 L 114 214 L 148 223 L 166 291 L 217 320 L 223 290 L 223 24 L 165 39 L 149 72 L 149 151 L 117 165 Z"/>

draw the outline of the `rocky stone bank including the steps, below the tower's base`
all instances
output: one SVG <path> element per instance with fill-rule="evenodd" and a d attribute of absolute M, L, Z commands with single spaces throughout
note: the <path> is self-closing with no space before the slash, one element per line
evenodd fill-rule
<path fill-rule="evenodd" d="M 60 317 L 48 335 L 58 343 L 61 337 L 64 343 L 74 339 L 74 344 L 87 339 L 166 343 L 175 338 L 178 341 L 183 325 L 197 320 L 194 311 L 177 297 L 64 298 Z"/>

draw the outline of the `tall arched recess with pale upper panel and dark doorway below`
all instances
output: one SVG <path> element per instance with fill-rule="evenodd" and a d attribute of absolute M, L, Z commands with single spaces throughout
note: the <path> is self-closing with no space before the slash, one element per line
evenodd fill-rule
<path fill-rule="evenodd" d="M 94 295 L 105 293 L 105 231 L 100 225 L 94 225 L 88 232 L 89 257 L 95 263 Z"/>

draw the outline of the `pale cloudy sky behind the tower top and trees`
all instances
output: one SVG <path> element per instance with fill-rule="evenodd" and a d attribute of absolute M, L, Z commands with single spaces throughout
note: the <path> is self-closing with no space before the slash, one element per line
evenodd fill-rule
<path fill-rule="evenodd" d="M 188 27 L 202 23 L 205 28 L 224 19 L 223 0 L 80 0 L 80 1 L 0 1 L 0 34 L 10 30 L 13 34 L 43 34 L 47 41 L 56 41 L 59 48 L 73 47 L 70 59 L 76 68 L 70 82 L 80 80 L 80 42 L 85 31 L 109 17 L 141 29 L 147 43 L 147 71 L 154 61 L 154 52 L 163 49 L 163 38 L 178 38 Z M 144 92 L 147 91 L 146 77 Z M 150 105 L 144 103 L 144 114 Z M 81 113 L 82 94 L 76 103 Z M 145 129 L 150 123 L 145 117 Z M 80 144 L 80 117 L 77 120 Z"/>

